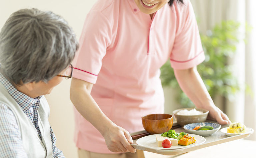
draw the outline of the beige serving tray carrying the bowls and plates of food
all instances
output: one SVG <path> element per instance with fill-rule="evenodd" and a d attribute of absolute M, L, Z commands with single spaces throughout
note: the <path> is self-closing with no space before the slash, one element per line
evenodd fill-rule
<path fill-rule="evenodd" d="M 177 127 L 177 123 L 174 122 L 173 126 Z M 138 149 L 138 150 L 153 152 L 153 153 L 162 154 L 162 155 L 177 155 L 177 154 L 183 154 L 183 153 L 186 153 L 186 152 L 189 152 L 189 151 L 194 151 L 194 150 L 197 150 L 197 149 L 205 148 L 205 147 L 208 147 L 208 146 L 213 146 L 213 145 L 217 145 L 217 144 L 221 144 L 221 143 L 225 143 L 225 142 L 229 142 L 229 141 L 233 141 L 233 140 L 237 140 L 237 139 L 246 138 L 246 137 L 249 137 L 254 131 L 252 129 L 249 133 L 247 132 L 247 133 L 242 133 L 242 134 L 239 134 L 239 135 L 229 137 L 229 136 L 226 136 L 224 133 L 222 133 L 220 131 L 222 128 L 225 128 L 225 127 L 228 127 L 228 126 L 229 125 L 221 125 L 221 128 L 216 133 L 214 133 L 210 136 L 204 136 L 206 141 L 202 144 L 198 144 L 198 145 L 194 145 L 194 146 L 187 146 L 185 148 L 180 148 L 180 149 L 166 150 L 166 149 L 157 149 L 157 148 L 152 148 L 152 147 L 148 147 L 148 146 L 142 146 L 142 145 L 138 145 L 136 143 L 136 141 L 138 139 L 133 140 L 133 144 L 131 144 L 131 145 L 135 149 Z M 179 128 L 175 128 L 175 131 L 177 133 L 180 133 L 180 132 L 184 132 L 185 130 L 183 129 L 183 127 L 179 127 Z M 131 133 L 131 136 L 138 135 L 138 133 L 145 133 L 145 132 L 146 131 Z"/>

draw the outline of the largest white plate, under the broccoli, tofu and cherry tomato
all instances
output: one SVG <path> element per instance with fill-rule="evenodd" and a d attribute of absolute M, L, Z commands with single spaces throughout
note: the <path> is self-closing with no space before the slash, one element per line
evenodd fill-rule
<path fill-rule="evenodd" d="M 179 133 L 178 133 L 179 134 Z M 187 133 L 186 133 L 187 134 Z M 205 138 L 200 136 L 200 135 L 195 135 L 195 134 L 188 134 L 191 137 L 194 137 L 196 142 L 193 144 L 189 144 L 187 146 L 182 146 L 182 145 L 178 145 L 178 146 L 171 146 L 170 148 L 163 148 L 163 147 L 158 147 L 156 144 L 156 135 L 161 135 L 161 134 L 154 134 L 154 135 L 148 135 L 142 138 L 139 138 L 136 143 L 138 145 L 142 145 L 145 147 L 150 147 L 150 148 L 155 148 L 155 149 L 180 149 L 180 148 L 186 148 L 186 147 L 190 147 L 190 146 L 194 146 L 194 145 L 198 145 L 198 144 L 202 144 L 205 142 Z"/>

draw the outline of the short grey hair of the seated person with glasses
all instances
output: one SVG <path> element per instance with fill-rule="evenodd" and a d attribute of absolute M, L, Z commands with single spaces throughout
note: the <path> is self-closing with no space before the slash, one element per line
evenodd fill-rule
<path fill-rule="evenodd" d="M 75 33 L 62 17 L 51 11 L 18 10 L 0 32 L 0 69 L 15 85 L 47 83 L 72 62 L 77 49 Z"/>

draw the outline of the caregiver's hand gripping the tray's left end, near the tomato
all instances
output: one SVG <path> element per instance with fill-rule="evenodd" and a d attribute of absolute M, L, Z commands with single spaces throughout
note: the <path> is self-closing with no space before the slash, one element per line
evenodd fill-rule
<path fill-rule="evenodd" d="M 130 143 L 133 143 L 129 132 L 113 123 L 102 132 L 107 147 L 112 152 L 136 152 L 136 149 Z"/>

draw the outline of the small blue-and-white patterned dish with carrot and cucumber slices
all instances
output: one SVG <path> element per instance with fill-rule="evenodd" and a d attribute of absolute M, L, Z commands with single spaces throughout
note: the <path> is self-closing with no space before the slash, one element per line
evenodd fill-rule
<path fill-rule="evenodd" d="M 212 130 L 193 130 L 196 126 L 211 126 L 213 127 Z M 218 123 L 211 123 L 211 122 L 200 122 L 200 123 L 190 123 L 186 124 L 183 126 L 185 131 L 187 133 L 192 133 L 196 135 L 201 135 L 201 136 L 209 136 L 212 135 L 213 133 L 217 132 L 220 129 L 221 125 Z"/>

